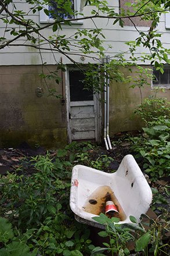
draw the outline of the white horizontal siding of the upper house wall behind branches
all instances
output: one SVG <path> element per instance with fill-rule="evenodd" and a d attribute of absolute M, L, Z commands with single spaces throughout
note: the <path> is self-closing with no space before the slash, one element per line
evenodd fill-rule
<path fill-rule="evenodd" d="M 133 1 L 133 0 L 131 0 Z M 15 2 L 16 8 L 19 6 L 19 9 L 28 11 L 29 5 L 26 3 L 26 1 L 13 1 Z M 124 4 L 125 0 L 120 0 L 121 6 Z M 108 0 L 109 6 L 111 8 L 115 8 L 116 12 L 119 12 L 119 0 Z M 84 15 L 89 15 L 90 10 L 93 9 L 93 6 L 85 6 L 83 13 Z M 35 22 L 39 23 L 39 12 L 36 12 L 34 15 L 30 12 L 29 17 L 30 19 L 34 19 Z M 128 46 L 125 45 L 126 41 L 133 41 L 135 38 L 139 37 L 138 31 L 136 31 L 135 27 L 132 26 L 131 23 L 126 20 L 125 26 L 122 28 L 119 23 L 116 23 L 113 26 L 114 20 L 108 20 L 108 19 L 94 19 L 94 22 L 96 26 L 100 29 L 103 29 L 103 34 L 106 37 L 106 40 L 104 40 L 104 47 L 107 49 L 107 55 L 114 56 L 118 52 L 124 52 L 128 50 Z M 138 22 L 138 30 L 147 32 L 149 30 L 149 23 L 146 22 L 140 22 L 139 19 Z M 41 26 L 44 26 L 44 23 L 39 23 Z M 92 22 L 91 19 L 84 20 L 82 24 L 74 24 L 73 26 L 67 26 L 63 25 L 63 30 L 56 31 L 55 33 L 52 32 L 52 28 L 45 29 L 44 31 L 41 31 L 41 33 L 45 36 L 52 35 L 52 34 L 59 34 L 64 35 L 66 34 L 67 37 L 73 35 L 77 29 L 91 29 L 95 28 L 95 24 Z M 131 25 L 131 26 L 130 26 Z M 5 23 L 2 23 L 0 20 L 0 34 L 3 35 L 5 30 Z M 13 25 L 12 25 L 13 26 Z M 165 29 L 165 14 L 162 14 L 160 23 L 157 27 L 158 33 L 162 33 L 161 41 L 163 43 L 164 47 L 169 47 L 170 44 L 170 29 Z M 7 32 L 5 33 L 5 36 L 10 37 L 10 34 Z M 61 54 L 59 52 L 55 53 L 55 58 L 53 54 L 49 51 L 46 51 L 44 49 L 41 50 L 41 55 L 39 54 L 38 49 L 31 48 L 28 46 L 24 46 L 26 44 L 26 38 L 21 38 L 17 41 L 19 44 L 23 44 L 23 46 L 13 46 L 9 48 L 5 48 L 1 50 L 1 58 L 0 58 L 0 65 L 41 65 L 42 59 L 44 62 L 48 63 L 48 65 L 56 64 L 56 61 L 60 61 Z M 74 40 L 73 40 L 74 42 Z M 108 45 L 111 46 L 111 48 L 108 48 Z M 48 45 L 45 45 L 45 47 L 48 47 Z M 85 60 L 81 60 L 81 55 L 73 55 L 74 48 L 71 51 L 70 57 L 74 59 L 74 61 L 78 61 L 81 63 L 88 63 L 94 62 L 96 63 L 96 59 L 88 58 L 88 56 L 85 57 Z M 67 51 L 65 51 L 67 52 Z M 140 56 L 141 53 L 148 52 L 146 48 L 138 47 L 136 51 L 136 56 Z M 80 52 L 76 52 L 76 54 L 81 54 Z M 41 59 L 42 56 L 42 59 Z M 93 57 L 96 55 L 91 54 L 89 57 Z M 126 58 L 129 57 L 129 54 L 125 54 Z M 70 64 L 71 61 L 63 56 L 63 63 Z M 99 62 L 100 63 L 100 62 Z M 139 62 L 140 63 L 140 62 Z M 147 62 L 146 62 L 147 64 Z"/>

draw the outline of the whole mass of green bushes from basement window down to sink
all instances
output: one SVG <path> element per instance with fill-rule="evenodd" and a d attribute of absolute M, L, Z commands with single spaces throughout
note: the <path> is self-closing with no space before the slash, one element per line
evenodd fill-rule
<path fill-rule="evenodd" d="M 143 157 L 144 171 L 152 180 L 169 174 L 169 128 L 168 104 L 165 99 L 146 99 L 135 115 L 139 115 L 146 123 L 144 134 L 131 138 L 132 150 Z"/>

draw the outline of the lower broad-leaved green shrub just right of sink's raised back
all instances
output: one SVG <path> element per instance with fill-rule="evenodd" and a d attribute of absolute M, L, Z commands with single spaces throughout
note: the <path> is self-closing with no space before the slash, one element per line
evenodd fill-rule
<path fill-rule="evenodd" d="M 131 148 L 143 157 L 144 171 L 152 180 L 169 175 L 169 127 L 170 120 L 164 119 L 162 125 L 143 128 L 143 136 L 131 138 Z"/>

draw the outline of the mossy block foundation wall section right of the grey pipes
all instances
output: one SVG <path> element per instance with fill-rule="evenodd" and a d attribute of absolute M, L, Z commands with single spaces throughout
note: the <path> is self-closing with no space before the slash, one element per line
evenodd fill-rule
<path fill-rule="evenodd" d="M 147 66 L 144 66 L 147 68 Z M 150 68 L 150 66 L 148 66 Z M 132 68 L 132 73 L 126 73 L 127 76 L 136 76 L 135 67 Z M 151 84 L 151 81 L 150 81 Z M 131 84 L 110 83 L 110 136 L 113 136 L 119 131 L 140 130 L 142 123 L 138 118 L 132 119 L 133 111 L 141 104 L 141 100 L 155 95 L 155 90 L 150 86 L 141 88 L 142 99 L 138 87 L 129 88 Z M 157 97 L 167 98 L 170 101 L 170 89 L 157 91 Z"/>

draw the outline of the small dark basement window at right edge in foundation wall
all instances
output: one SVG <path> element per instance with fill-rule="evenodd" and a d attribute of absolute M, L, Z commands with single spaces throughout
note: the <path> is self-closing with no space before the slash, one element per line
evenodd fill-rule
<path fill-rule="evenodd" d="M 164 65 L 164 74 L 153 69 L 153 87 L 170 88 L 170 65 Z"/>

